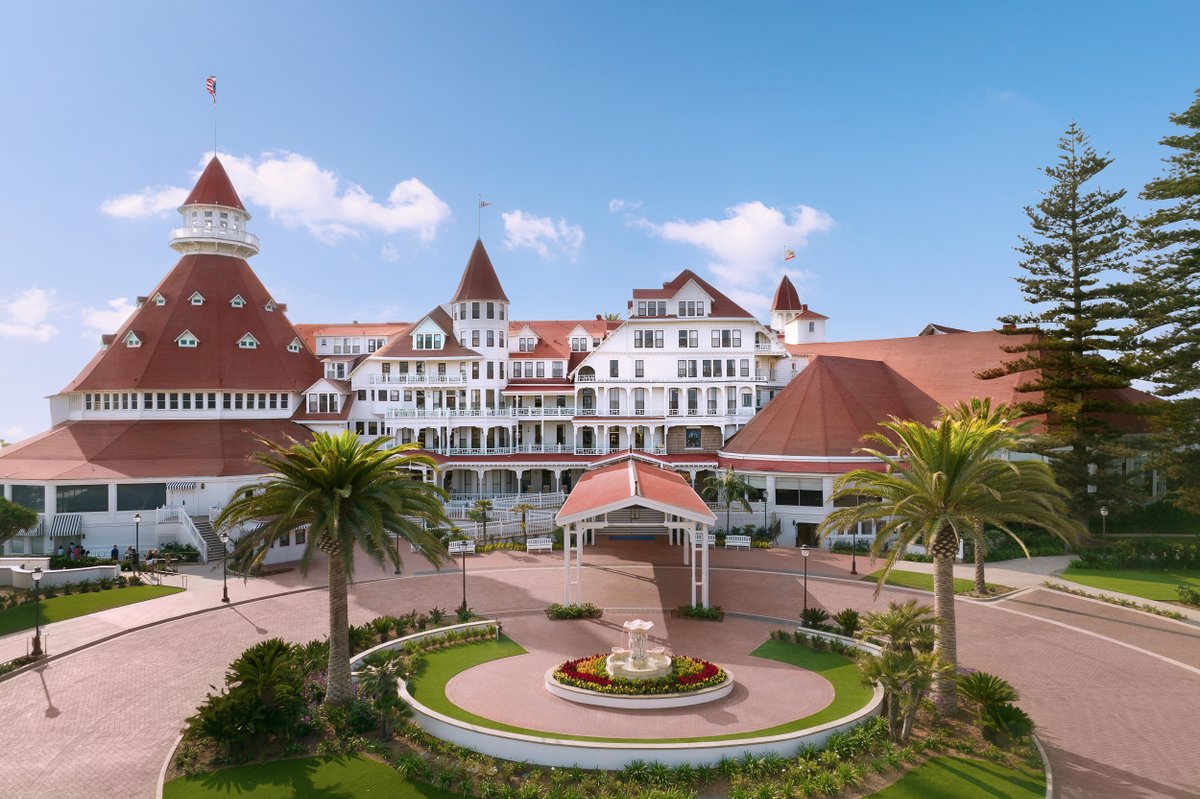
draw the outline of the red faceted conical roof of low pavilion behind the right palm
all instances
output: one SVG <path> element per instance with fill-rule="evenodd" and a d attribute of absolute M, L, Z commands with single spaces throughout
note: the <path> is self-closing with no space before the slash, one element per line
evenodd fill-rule
<path fill-rule="evenodd" d="M 929 422 L 937 410 L 932 397 L 887 364 L 820 355 L 721 453 L 848 457 L 888 416 Z"/>

